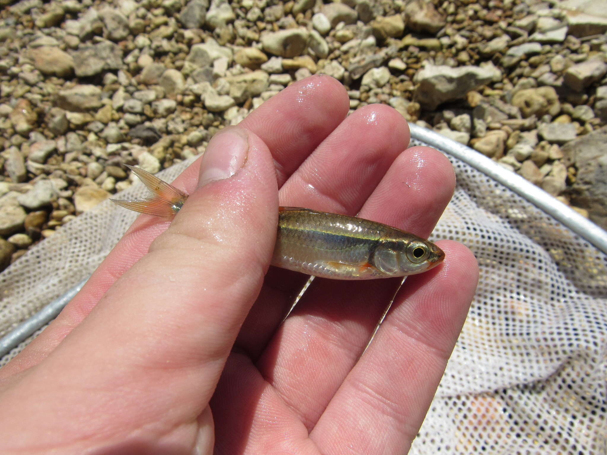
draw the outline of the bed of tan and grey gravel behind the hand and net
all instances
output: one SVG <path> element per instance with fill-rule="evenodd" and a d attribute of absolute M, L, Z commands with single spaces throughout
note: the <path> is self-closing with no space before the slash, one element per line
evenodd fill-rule
<path fill-rule="evenodd" d="M 203 152 L 293 81 L 341 81 L 607 227 L 607 11 L 540 0 L 21 0 L 0 11 L 0 269 Z M 596 13 L 596 15 L 594 14 Z"/>

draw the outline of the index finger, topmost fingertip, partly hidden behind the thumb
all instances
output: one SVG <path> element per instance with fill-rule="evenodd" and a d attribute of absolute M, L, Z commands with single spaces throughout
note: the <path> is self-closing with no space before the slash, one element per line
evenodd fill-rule
<path fill-rule="evenodd" d="M 270 147 L 280 187 L 339 126 L 349 108 L 348 93 L 337 79 L 314 75 L 268 99 L 240 126 Z"/>

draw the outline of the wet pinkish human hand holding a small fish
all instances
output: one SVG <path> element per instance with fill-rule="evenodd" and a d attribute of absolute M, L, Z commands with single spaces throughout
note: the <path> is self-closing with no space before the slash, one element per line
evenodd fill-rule
<path fill-rule="evenodd" d="M 266 274 L 279 204 L 427 237 L 449 202 L 449 161 L 405 150 L 401 115 L 347 112 L 341 84 L 313 76 L 218 133 L 175 180 L 190 197 L 174 221 L 139 217 L 0 369 L 0 453 L 406 453 L 466 318 L 473 255 L 438 242 L 443 264 L 407 278 L 359 360 L 399 278 L 314 280 L 281 324 L 307 277 Z M 246 159 L 228 163 L 237 138 Z M 212 181 L 197 187 L 199 168 Z"/>

